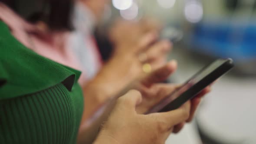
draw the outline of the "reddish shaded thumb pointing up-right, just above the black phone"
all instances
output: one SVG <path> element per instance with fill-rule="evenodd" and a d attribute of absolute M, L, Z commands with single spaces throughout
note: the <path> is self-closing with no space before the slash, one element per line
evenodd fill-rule
<path fill-rule="evenodd" d="M 177 61 L 172 60 L 171 62 L 168 62 L 166 65 L 164 65 L 160 69 L 157 69 L 154 72 L 152 72 L 150 75 L 148 75 L 144 80 L 142 80 L 142 83 L 145 86 L 150 87 L 154 83 L 163 82 L 176 69 L 177 69 Z"/>

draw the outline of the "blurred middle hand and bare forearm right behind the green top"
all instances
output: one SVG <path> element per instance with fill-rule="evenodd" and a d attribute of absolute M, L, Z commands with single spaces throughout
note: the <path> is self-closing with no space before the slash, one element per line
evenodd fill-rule
<path fill-rule="evenodd" d="M 169 52 L 171 44 L 168 41 L 156 42 L 156 39 L 154 33 L 148 33 L 138 43 L 126 45 L 124 50 L 115 53 L 106 62 L 94 79 L 84 85 L 86 96 L 82 121 L 93 115 L 108 98 L 116 96 L 141 77 L 148 75 L 143 71 L 144 63 L 152 65 L 152 70 L 158 68 L 154 66 L 155 59 Z M 141 55 L 144 58 L 141 59 Z"/>

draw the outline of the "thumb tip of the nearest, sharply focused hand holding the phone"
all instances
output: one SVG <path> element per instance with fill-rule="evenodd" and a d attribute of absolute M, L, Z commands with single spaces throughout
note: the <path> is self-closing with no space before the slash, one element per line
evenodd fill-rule
<path fill-rule="evenodd" d="M 142 101 L 141 93 L 137 90 L 130 90 L 125 95 L 118 98 L 118 104 L 135 111 L 137 105 Z"/>

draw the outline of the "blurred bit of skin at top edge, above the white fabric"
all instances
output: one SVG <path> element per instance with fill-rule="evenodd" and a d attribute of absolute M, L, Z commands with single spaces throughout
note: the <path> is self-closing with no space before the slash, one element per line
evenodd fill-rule
<path fill-rule="evenodd" d="M 95 15 L 97 20 L 101 20 L 104 14 L 105 5 L 110 3 L 110 0 L 81 0 Z"/>

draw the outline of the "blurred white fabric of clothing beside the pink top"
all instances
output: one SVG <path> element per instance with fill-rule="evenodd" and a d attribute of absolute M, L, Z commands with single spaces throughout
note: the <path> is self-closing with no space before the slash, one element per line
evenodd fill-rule
<path fill-rule="evenodd" d="M 75 31 L 69 37 L 68 45 L 76 54 L 85 69 L 85 79 L 92 79 L 101 67 L 101 57 L 92 37 L 94 29 L 94 16 L 84 4 L 75 5 L 73 24 Z"/>

